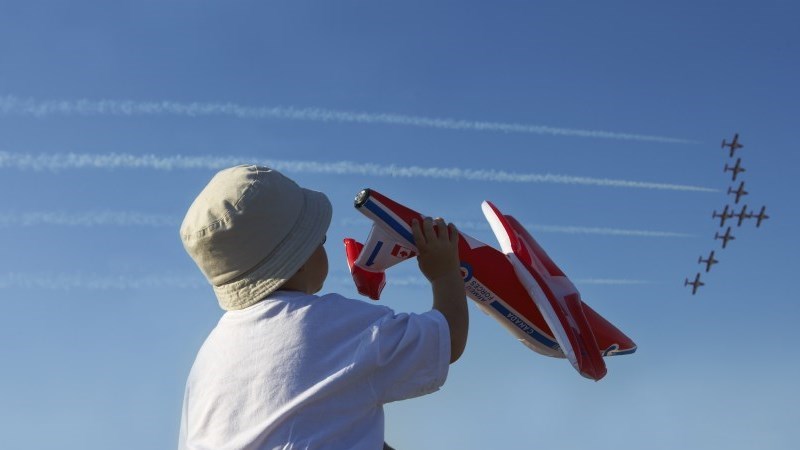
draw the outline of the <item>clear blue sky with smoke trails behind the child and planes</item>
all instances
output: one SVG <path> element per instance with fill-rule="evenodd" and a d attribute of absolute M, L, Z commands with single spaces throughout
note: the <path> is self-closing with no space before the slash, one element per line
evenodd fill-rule
<path fill-rule="evenodd" d="M 593 383 L 471 306 L 445 387 L 387 406 L 397 448 L 793 448 L 798 13 L 0 2 L 0 447 L 176 445 L 186 375 L 221 315 L 178 226 L 236 161 L 328 194 L 325 291 L 357 296 L 337 242 L 368 233 L 360 189 L 495 245 L 488 199 L 639 345 Z M 743 201 L 771 218 L 734 225 L 722 250 L 711 211 L 732 202 L 720 141 L 735 132 Z M 397 176 L 410 167 L 437 170 Z M 683 279 L 714 249 L 691 296 Z M 388 277 L 383 303 L 430 307 L 415 264 Z"/>

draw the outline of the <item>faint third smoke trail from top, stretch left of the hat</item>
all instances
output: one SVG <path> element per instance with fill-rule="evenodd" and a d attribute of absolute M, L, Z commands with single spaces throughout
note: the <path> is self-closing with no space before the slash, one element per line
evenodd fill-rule
<path fill-rule="evenodd" d="M 162 214 L 144 214 L 126 211 L 87 211 L 68 213 L 64 211 L 5 212 L 0 213 L 0 227 L 60 225 L 74 227 L 92 226 L 177 226 L 180 219 Z"/>

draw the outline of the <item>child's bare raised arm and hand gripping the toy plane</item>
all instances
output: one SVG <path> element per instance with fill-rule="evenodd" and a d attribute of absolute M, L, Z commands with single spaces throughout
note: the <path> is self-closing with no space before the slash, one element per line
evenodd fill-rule
<path fill-rule="evenodd" d="M 419 270 L 430 281 L 433 289 L 433 309 L 447 319 L 450 328 L 450 363 L 464 352 L 469 330 L 469 313 L 464 292 L 464 280 L 458 260 L 458 230 L 437 218 L 425 218 L 420 226 L 416 219 L 411 229 L 416 241 Z"/>

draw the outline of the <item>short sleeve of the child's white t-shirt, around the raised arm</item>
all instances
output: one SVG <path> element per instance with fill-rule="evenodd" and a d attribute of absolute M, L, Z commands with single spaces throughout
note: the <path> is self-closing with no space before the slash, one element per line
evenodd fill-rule
<path fill-rule="evenodd" d="M 450 366 L 450 329 L 437 310 L 389 314 L 373 325 L 376 370 L 372 387 L 380 403 L 439 390 Z"/>

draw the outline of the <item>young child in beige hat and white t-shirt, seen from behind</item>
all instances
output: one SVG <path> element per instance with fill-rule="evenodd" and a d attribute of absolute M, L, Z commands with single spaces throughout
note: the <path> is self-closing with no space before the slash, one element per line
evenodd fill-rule
<path fill-rule="evenodd" d="M 192 203 L 181 239 L 226 312 L 189 374 L 180 449 L 378 450 L 383 404 L 444 384 L 468 329 L 455 226 L 413 224 L 433 307 L 396 314 L 315 295 L 330 220 L 324 194 L 267 167 L 222 170 Z"/>

